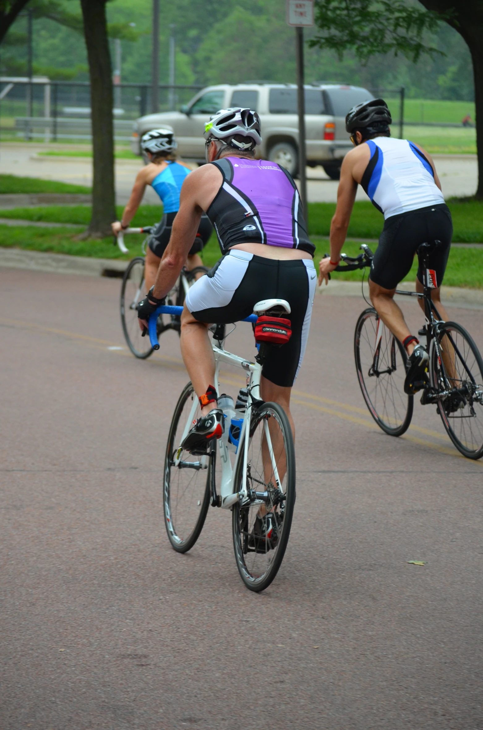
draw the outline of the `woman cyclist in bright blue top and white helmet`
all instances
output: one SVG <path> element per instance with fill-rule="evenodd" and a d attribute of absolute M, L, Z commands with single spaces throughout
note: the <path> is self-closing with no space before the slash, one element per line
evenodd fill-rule
<path fill-rule="evenodd" d="M 185 177 L 191 172 L 187 164 L 177 160 L 176 148 L 177 142 L 171 129 L 153 129 L 144 134 L 141 140 L 141 149 L 149 160 L 149 164 L 139 170 L 131 197 L 124 209 L 121 220 L 112 223 L 112 231 L 115 236 L 120 230 L 128 228 L 142 201 L 146 185 L 151 185 L 163 201 L 163 218 L 153 231 L 146 249 L 144 277 L 148 290 L 154 284 L 159 262 L 163 257 L 166 246 L 169 244 L 171 226 L 179 209 L 179 191 Z M 211 234 L 212 224 L 209 222 L 209 218 L 204 215 L 198 226 L 196 239 L 190 253 L 188 253 L 186 260 L 188 269 L 203 266 L 199 253 Z"/>

